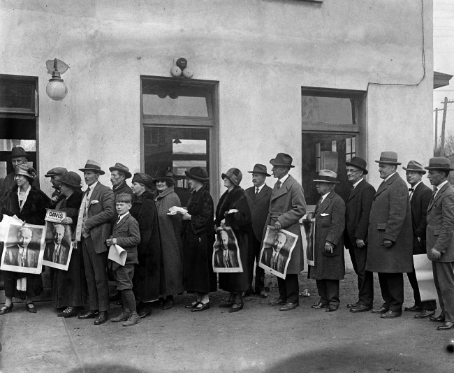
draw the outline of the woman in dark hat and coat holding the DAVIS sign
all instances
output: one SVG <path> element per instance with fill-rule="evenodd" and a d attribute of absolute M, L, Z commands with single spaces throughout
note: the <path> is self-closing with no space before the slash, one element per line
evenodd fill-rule
<path fill-rule="evenodd" d="M 69 171 L 59 180 L 61 198 L 55 210 L 66 212 L 66 218 L 61 224 L 71 226 L 73 231 L 78 225 L 78 214 L 82 203 L 80 176 Z M 73 247 L 68 270 L 51 268 L 52 279 L 52 306 L 66 307 L 57 314 L 59 317 L 72 317 L 79 313 L 79 309 L 87 305 L 87 281 L 85 280 L 84 262 L 80 249 Z"/>

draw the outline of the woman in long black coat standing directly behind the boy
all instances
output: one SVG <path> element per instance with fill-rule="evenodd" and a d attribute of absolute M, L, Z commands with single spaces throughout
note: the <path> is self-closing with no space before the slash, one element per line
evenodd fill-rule
<path fill-rule="evenodd" d="M 140 244 L 138 261 L 133 277 L 133 292 L 142 319 L 152 314 L 150 302 L 159 298 L 161 273 L 161 241 L 159 240 L 158 211 L 154 204 L 153 178 L 145 173 L 134 174 L 132 180 L 133 206 L 129 210 L 138 221 Z"/>

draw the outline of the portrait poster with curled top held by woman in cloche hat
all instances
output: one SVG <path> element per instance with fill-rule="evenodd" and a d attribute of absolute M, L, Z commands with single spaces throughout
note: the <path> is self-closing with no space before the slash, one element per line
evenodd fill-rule
<path fill-rule="evenodd" d="M 213 245 L 213 271 L 218 273 L 243 272 L 237 237 L 229 226 L 217 231 Z"/>

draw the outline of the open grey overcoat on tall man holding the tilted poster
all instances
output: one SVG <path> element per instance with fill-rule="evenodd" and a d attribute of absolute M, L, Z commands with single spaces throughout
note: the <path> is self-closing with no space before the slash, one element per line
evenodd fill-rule
<path fill-rule="evenodd" d="M 304 269 L 304 255 L 302 248 L 302 237 L 300 229 L 300 219 L 306 214 L 306 200 L 304 190 L 299 182 L 292 175 L 288 175 L 286 181 L 277 189 L 274 184 L 270 199 L 270 210 L 268 219 L 263 228 L 263 237 L 266 234 L 268 225 L 274 226 L 279 221 L 282 228 L 295 235 L 298 241 L 292 251 L 290 262 L 288 263 L 287 273 L 298 274 Z"/>

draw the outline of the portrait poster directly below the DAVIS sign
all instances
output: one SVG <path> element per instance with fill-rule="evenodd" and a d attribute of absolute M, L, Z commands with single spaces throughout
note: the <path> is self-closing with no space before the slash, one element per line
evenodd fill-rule
<path fill-rule="evenodd" d="M 45 224 L 43 265 L 67 271 L 73 253 L 73 242 L 71 242 L 73 230 L 68 224 L 63 225 L 52 221 L 46 221 Z"/>

